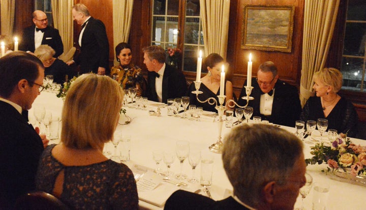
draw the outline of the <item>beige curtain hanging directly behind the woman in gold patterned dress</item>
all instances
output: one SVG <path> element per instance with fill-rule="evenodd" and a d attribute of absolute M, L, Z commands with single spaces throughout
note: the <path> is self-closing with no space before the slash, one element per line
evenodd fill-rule
<path fill-rule="evenodd" d="M 128 42 L 132 21 L 133 0 L 113 0 L 112 4 L 114 49 L 120 42 Z M 118 62 L 115 59 L 114 65 L 118 65 Z"/>

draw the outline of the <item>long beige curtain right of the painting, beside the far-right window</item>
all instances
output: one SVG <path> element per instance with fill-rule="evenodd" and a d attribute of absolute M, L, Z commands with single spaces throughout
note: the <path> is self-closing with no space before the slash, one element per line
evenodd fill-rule
<path fill-rule="evenodd" d="M 324 68 L 340 0 L 306 0 L 302 41 L 300 100 L 313 95 L 313 74 Z"/>

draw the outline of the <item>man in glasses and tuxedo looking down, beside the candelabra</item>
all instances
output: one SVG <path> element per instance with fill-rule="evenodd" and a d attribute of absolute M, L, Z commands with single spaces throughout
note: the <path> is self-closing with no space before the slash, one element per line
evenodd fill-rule
<path fill-rule="evenodd" d="M 238 104 L 244 106 L 247 81 L 244 83 L 239 96 Z M 249 107 L 253 107 L 252 116 L 260 116 L 262 120 L 293 127 L 301 113 L 300 98 L 297 88 L 281 80 L 277 74 L 276 65 L 267 61 L 259 66 L 257 78 L 252 79 L 254 89 L 250 96 Z"/>

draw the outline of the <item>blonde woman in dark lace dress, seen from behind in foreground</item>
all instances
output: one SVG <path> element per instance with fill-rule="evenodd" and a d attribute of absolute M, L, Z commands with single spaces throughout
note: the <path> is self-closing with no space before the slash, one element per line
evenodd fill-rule
<path fill-rule="evenodd" d="M 137 209 L 132 171 L 103 153 L 113 138 L 123 90 L 108 76 L 83 74 L 66 95 L 60 144 L 43 152 L 37 190 L 75 209 Z"/>

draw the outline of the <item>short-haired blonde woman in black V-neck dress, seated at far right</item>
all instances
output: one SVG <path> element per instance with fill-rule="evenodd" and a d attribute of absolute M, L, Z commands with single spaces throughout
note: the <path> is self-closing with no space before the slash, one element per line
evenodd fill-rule
<path fill-rule="evenodd" d="M 324 118 L 328 120 L 328 129 L 349 137 L 357 135 L 357 112 L 350 101 L 338 95 L 342 87 L 342 73 L 335 68 L 324 68 L 313 76 L 316 96 L 310 97 L 302 109 L 303 121 Z"/>

